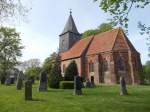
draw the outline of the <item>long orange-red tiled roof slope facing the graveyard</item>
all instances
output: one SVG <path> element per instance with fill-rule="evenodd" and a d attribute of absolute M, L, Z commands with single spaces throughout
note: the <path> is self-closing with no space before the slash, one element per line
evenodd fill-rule
<path fill-rule="evenodd" d="M 61 60 L 80 57 L 85 49 L 87 49 L 86 55 L 111 51 L 119 31 L 122 30 L 120 28 L 113 29 L 111 31 L 81 39 L 68 51 L 60 54 Z"/>

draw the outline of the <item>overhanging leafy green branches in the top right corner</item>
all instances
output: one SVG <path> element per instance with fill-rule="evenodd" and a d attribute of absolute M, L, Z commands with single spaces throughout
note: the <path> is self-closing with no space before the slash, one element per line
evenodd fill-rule
<path fill-rule="evenodd" d="M 150 6 L 150 0 L 94 0 L 99 2 L 99 7 L 106 13 L 112 15 L 109 20 L 113 22 L 115 26 L 121 26 L 126 29 L 129 23 L 129 13 L 131 10 L 143 9 L 146 6 Z M 141 21 L 141 20 L 139 20 Z M 140 29 L 140 34 L 146 34 L 148 40 L 148 46 L 150 51 L 150 26 L 138 22 L 138 28 Z"/>

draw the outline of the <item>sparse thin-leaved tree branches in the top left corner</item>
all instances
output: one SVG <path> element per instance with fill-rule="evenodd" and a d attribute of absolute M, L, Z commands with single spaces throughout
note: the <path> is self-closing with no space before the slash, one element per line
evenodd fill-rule
<path fill-rule="evenodd" d="M 12 19 L 17 16 L 26 16 L 29 9 L 23 4 L 22 0 L 0 0 L 0 22 Z"/>

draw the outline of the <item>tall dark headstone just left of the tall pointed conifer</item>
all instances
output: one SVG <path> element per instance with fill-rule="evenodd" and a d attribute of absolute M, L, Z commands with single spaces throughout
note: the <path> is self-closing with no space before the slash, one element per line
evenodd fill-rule
<path fill-rule="evenodd" d="M 39 91 L 47 91 L 47 73 L 42 71 L 40 74 Z"/>

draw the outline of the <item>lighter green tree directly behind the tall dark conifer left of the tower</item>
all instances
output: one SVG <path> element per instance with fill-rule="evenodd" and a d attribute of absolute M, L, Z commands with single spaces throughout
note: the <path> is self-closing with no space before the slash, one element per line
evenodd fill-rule
<path fill-rule="evenodd" d="M 53 52 L 50 57 L 46 58 L 43 64 L 43 69 L 46 70 L 48 73 L 50 73 L 52 66 L 54 65 L 54 62 L 57 57 L 57 53 Z"/>

